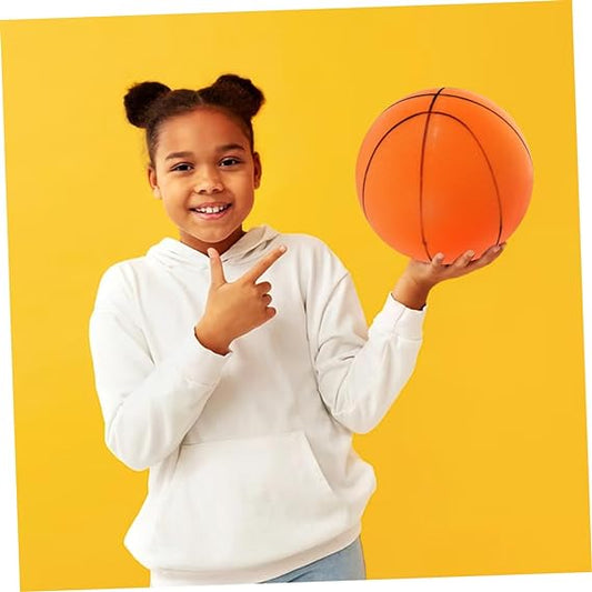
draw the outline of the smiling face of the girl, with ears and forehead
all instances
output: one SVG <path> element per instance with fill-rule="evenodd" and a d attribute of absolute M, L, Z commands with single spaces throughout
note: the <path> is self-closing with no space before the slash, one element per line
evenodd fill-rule
<path fill-rule="evenodd" d="M 222 253 L 243 233 L 261 163 L 238 122 L 219 110 L 200 108 L 162 124 L 148 177 L 181 242 Z"/>

